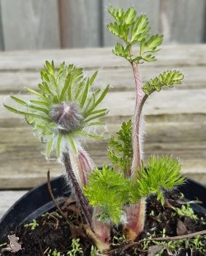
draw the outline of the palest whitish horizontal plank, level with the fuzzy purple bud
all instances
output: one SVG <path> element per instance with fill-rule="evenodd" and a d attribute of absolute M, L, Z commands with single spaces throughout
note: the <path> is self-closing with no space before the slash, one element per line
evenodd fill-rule
<path fill-rule="evenodd" d="M 12 107 L 17 107 L 17 103 L 12 99 L 5 99 L 5 95 L 0 95 L 0 102 L 4 102 Z M 20 99 L 28 101 L 33 99 L 31 95 L 19 95 Z M 4 100 L 5 99 L 5 100 Z M 119 120 L 124 116 L 129 117 L 134 110 L 134 91 L 110 91 L 104 99 L 102 106 L 111 109 L 110 121 Z M 194 115 L 202 114 L 206 116 L 206 89 L 197 90 L 166 90 L 153 93 L 145 104 L 145 114 L 148 116 L 160 115 Z M 124 102 L 124 104 L 123 104 Z M 18 105 L 20 107 L 20 105 Z M 12 113 L 0 105 L 0 123 L 3 125 L 5 120 L 22 119 L 21 115 Z M 169 121 L 167 119 L 167 121 Z"/>

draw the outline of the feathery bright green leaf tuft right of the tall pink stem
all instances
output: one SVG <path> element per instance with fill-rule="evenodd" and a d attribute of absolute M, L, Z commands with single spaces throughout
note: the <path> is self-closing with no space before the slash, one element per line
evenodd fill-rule
<path fill-rule="evenodd" d="M 131 203 L 137 203 L 141 197 L 150 194 L 157 194 L 157 199 L 164 205 L 164 195 L 162 188 L 174 189 L 175 186 L 182 184 L 185 178 L 180 173 L 181 165 L 178 159 L 172 157 L 155 157 L 153 155 L 148 161 L 145 169 L 138 167 L 137 179 L 133 178 L 134 186 L 131 187 Z"/>

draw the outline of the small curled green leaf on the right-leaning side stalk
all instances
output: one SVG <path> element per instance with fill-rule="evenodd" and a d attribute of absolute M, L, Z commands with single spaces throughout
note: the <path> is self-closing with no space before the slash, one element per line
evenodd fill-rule
<path fill-rule="evenodd" d="M 180 71 L 172 70 L 166 71 L 160 74 L 154 79 L 148 80 L 145 86 L 142 86 L 142 90 L 145 94 L 150 95 L 153 91 L 161 91 L 162 86 L 174 87 L 174 84 L 181 84 L 184 75 Z"/>

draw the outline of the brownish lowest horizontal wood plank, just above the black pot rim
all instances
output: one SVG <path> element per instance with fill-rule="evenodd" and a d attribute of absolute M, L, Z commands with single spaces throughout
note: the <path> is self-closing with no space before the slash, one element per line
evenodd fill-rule
<path fill-rule="evenodd" d="M 109 129 L 114 129 L 109 126 Z M 172 123 L 148 123 L 145 140 L 145 160 L 150 154 L 173 154 L 173 157 L 183 159 L 183 172 L 194 176 L 194 170 L 198 175 L 205 177 L 206 164 L 206 135 L 204 124 L 172 122 Z M 62 174 L 63 167 L 56 161 L 47 162 L 40 154 L 42 145 L 37 138 L 29 132 L 28 128 L 0 129 L 1 135 L 1 165 L 0 188 L 28 188 L 46 181 L 47 170 L 50 169 L 51 177 Z M 12 135 L 12 136 L 11 136 Z M 2 151 L 2 145 L 4 151 Z M 96 165 L 103 165 L 107 159 L 107 140 L 88 146 L 88 152 Z M 108 162 L 110 164 L 110 162 Z M 199 174 L 198 174 L 199 173 Z"/>

